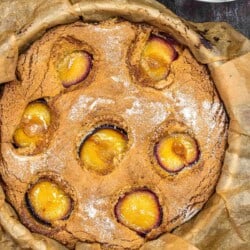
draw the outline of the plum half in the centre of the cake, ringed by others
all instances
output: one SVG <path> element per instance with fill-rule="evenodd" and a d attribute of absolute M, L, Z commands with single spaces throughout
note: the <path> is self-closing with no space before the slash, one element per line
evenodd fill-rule
<path fill-rule="evenodd" d="M 91 170 L 107 174 L 127 150 L 128 137 L 116 127 L 100 127 L 87 136 L 80 147 L 80 160 Z"/>

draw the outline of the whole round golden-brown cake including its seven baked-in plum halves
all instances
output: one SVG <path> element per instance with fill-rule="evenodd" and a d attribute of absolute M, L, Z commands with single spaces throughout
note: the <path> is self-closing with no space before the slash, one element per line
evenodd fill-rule
<path fill-rule="evenodd" d="M 213 193 L 226 113 L 169 34 L 121 19 L 48 31 L 1 98 L 1 176 L 32 232 L 136 249 Z"/>

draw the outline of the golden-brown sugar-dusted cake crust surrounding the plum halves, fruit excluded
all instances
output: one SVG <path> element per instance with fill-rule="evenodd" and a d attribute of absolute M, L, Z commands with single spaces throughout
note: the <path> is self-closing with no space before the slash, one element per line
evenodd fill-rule
<path fill-rule="evenodd" d="M 19 80 L 5 86 L 1 99 L 1 174 L 9 202 L 33 232 L 69 247 L 80 240 L 135 249 L 190 219 L 212 194 L 226 143 L 223 104 L 205 66 L 185 47 L 164 88 L 137 81 L 133 63 L 151 32 L 158 31 L 121 20 L 77 22 L 52 29 L 20 56 Z M 88 51 L 93 65 L 82 83 L 65 89 L 55 65 L 73 50 Z M 13 133 L 28 103 L 40 98 L 54 114 L 50 138 L 38 154 L 20 152 Z M 82 166 L 78 149 L 89 131 L 109 123 L 127 131 L 129 149 L 111 173 L 98 175 Z M 166 131 L 190 133 L 199 144 L 199 160 L 178 174 L 163 171 L 153 157 L 153 146 Z M 52 226 L 37 221 L 25 203 L 30 183 L 44 176 L 74 201 L 70 217 Z M 157 195 L 163 214 L 146 238 L 114 214 L 121 194 L 143 187 Z"/>

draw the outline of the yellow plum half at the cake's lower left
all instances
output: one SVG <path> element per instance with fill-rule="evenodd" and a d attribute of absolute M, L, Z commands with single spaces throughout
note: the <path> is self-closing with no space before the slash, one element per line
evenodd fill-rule
<path fill-rule="evenodd" d="M 40 180 L 26 192 L 26 203 L 32 215 L 51 224 L 67 219 L 72 210 L 71 198 L 50 180 Z"/>

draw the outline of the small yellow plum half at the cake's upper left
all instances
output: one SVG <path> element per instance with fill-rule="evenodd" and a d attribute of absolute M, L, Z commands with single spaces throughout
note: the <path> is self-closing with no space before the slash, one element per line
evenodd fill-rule
<path fill-rule="evenodd" d="M 57 72 L 65 88 L 87 78 L 92 67 L 92 57 L 85 51 L 74 51 L 66 55 L 57 65 Z"/>

